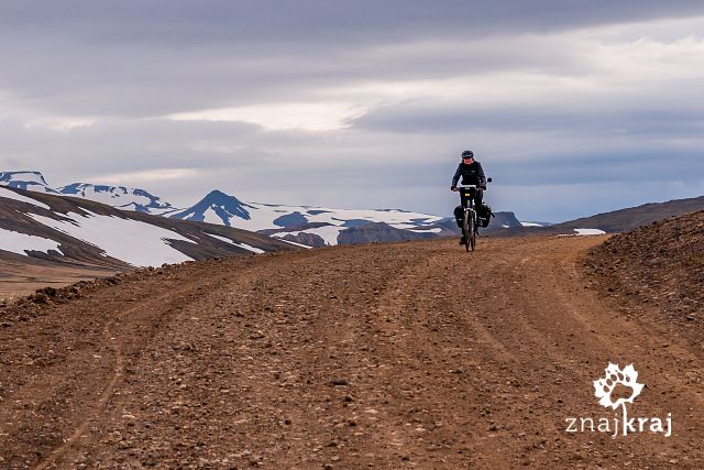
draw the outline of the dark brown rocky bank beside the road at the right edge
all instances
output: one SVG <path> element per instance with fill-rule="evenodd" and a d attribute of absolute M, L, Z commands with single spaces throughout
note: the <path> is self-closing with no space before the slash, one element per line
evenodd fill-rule
<path fill-rule="evenodd" d="M 704 334 L 704 210 L 615 236 L 590 252 L 595 283 L 632 315 Z"/>

